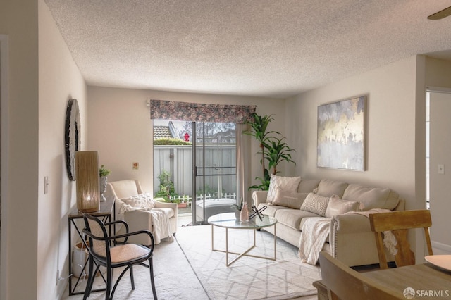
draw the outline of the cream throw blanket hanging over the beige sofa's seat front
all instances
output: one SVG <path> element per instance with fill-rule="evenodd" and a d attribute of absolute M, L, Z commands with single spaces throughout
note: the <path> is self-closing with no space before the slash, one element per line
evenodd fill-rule
<path fill-rule="evenodd" d="M 316 265 L 319 252 L 330 232 L 330 218 L 307 218 L 299 239 L 299 257 L 303 263 Z"/>

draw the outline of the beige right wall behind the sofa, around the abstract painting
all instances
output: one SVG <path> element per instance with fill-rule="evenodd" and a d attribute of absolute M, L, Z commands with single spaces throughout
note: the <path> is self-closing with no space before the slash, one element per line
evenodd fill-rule
<path fill-rule="evenodd" d="M 416 206 L 415 112 L 416 57 L 300 94 L 287 101 L 288 140 L 299 162 L 292 172 L 363 185 L 391 187 Z M 366 165 L 364 172 L 316 168 L 317 107 L 366 95 Z"/>

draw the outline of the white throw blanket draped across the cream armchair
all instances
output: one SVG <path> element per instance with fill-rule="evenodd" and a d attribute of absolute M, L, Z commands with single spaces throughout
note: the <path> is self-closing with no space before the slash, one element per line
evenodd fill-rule
<path fill-rule="evenodd" d="M 154 235 L 155 244 L 159 244 L 162 240 L 164 242 L 173 242 L 171 224 L 169 217 L 161 208 L 154 208 L 154 204 L 150 201 L 142 204 L 140 207 L 133 207 L 129 204 L 123 204 L 119 214 L 123 215 L 129 211 L 149 211 L 152 215 L 152 235 Z M 145 228 L 144 228 L 145 229 Z"/>

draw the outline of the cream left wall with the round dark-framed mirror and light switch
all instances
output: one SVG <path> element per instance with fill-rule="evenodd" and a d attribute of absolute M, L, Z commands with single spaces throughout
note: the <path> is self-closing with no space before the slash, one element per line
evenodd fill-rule
<path fill-rule="evenodd" d="M 80 107 L 81 147 L 87 149 L 87 87 L 44 0 L 39 0 L 39 175 L 37 182 L 37 299 L 60 299 L 68 280 L 68 213 L 75 182 L 68 179 L 64 148 L 66 107 Z M 44 176 L 49 192 L 44 194 Z M 73 241 L 75 232 L 73 232 Z M 75 244 L 75 242 L 74 242 Z"/>

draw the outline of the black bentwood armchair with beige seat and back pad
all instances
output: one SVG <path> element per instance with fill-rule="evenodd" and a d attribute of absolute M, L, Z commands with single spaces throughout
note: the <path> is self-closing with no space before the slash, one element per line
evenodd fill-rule
<path fill-rule="evenodd" d="M 136 232 L 128 232 L 128 225 L 124 221 L 114 221 L 110 223 L 102 223 L 98 218 L 94 218 L 91 215 L 83 215 L 85 220 L 85 229 L 83 232 L 89 237 L 89 276 L 85 289 L 86 299 L 91 294 L 92 285 L 94 282 L 94 274 L 97 274 L 100 266 L 106 268 L 106 294 L 105 299 L 113 299 L 113 294 L 116 291 L 119 281 L 123 275 L 130 270 L 130 281 L 132 289 L 135 289 L 135 282 L 133 280 L 133 265 L 143 265 L 150 270 L 150 281 L 152 284 L 152 293 L 154 299 L 156 297 L 156 289 L 154 282 L 154 268 L 152 263 L 152 255 L 154 253 L 154 236 L 149 230 L 139 230 Z M 123 235 L 109 236 L 105 226 L 111 226 L 116 223 L 122 223 L 126 227 L 126 232 Z M 132 235 L 149 235 L 151 244 L 143 246 L 140 244 L 128 244 L 127 239 Z M 123 242 L 117 243 L 117 240 Z M 111 246 L 117 244 L 116 246 Z M 144 262 L 149 261 L 149 265 Z M 96 268 L 94 270 L 94 263 Z M 111 289 L 113 280 L 113 268 L 125 267 L 118 280 Z"/>

